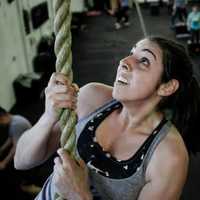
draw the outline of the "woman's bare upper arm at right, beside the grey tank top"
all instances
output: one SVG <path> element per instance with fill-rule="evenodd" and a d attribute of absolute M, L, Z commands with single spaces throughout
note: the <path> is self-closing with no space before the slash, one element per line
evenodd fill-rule
<path fill-rule="evenodd" d="M 147 168 L 147 183 L 138 200 L 180 199 L 187 177 L 188 160 L 180 138 L 161 142 Z"/>

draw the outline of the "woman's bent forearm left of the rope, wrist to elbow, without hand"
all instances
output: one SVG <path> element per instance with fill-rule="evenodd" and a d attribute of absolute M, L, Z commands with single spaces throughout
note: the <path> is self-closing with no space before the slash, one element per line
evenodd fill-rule
<path fill-rule="evenodd" d="M 32 168 L 50 156 L 59 143 L 59 137 L 56 136 L 58 133 L 53 131 L 54 125 L 55 121 L 44 114 L 31 129 L 20 137 L 14 157 L 17 169 Z M 51 144 L 51 149 L 48 144 Z"/>

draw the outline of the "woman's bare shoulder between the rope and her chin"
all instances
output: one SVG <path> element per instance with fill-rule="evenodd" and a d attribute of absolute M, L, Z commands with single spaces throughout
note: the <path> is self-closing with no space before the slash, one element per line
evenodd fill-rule
<path fill-rule="evenodd" d="M 112 99 L 112 87 L 102 83 L 88 83 L 78 94 L 77 114 L 79 119 L 95 111 Z"/>

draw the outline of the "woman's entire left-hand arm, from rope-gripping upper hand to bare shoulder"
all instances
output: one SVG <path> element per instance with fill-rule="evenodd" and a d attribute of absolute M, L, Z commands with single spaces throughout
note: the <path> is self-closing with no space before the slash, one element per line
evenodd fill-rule
<path fill-rule="evenodd" d="M 45 112 L 19 139 L 14 157 L 17 169 L 32 168 L 44 162 L 59 146 L 58 108 L 76 109 L 79 118 L 112 99 L 112 87 L 91 83 L 77 91 L 60 73 L 54 73 L 45 90 Z"/>

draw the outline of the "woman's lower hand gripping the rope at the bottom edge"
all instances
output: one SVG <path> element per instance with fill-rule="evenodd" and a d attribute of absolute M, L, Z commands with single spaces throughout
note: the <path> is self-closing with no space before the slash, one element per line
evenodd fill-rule
<path fill-rule="evenodd" d="M 85 163 L 75 161 L 64 149 L 57 152 L 53 175 L 56 192 L 67 200 L 91 200 Z"/>

